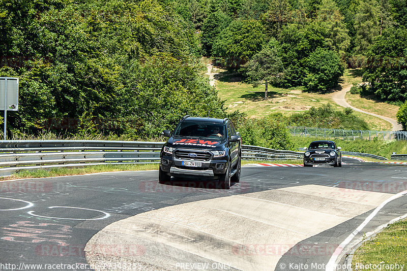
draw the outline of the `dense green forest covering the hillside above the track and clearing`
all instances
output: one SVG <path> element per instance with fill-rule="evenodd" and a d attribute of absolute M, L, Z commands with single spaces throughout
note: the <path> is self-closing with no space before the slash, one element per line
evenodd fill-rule
<path fill-rule="evenodd" d="M 224 117 L 202 55 L 316 92 L 362 67 L 364 92 L 402 105 L 406 26 L 405 0 L 0 0 L 0 76 L 20 79 L 8 127 L 152 139 L 187 114 Z"/>

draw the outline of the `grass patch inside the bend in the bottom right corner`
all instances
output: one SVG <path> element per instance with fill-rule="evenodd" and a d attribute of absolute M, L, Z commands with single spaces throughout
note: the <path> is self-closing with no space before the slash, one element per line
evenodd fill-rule
<path fill-rule="evenodd" d="M 387 264 L 394 264 L 394 266 L 399 264 L 404 265 L 403 269 L 407 268 L 407 221 L 391 224 L 373 239 L 363 243 L 354 253 L 352 268 L 354 270 L 362 269 L 362 264 L 363 270 L 366 271 L 378 270 L 377 266 Z M 376 268 L 365 268 L 373 265 L 376 265 Z M 386 267 L 381 269 L 390 270 Z M 401 270 L 401 267 L 394 268 L 394 270 Z"/>

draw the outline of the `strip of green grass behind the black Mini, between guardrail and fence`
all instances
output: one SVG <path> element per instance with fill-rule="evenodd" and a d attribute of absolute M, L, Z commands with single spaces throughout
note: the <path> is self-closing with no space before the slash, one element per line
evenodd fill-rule
<path fill-rule="evenodd" d="M 386 157 L 387 159 L 391 158 L 393 152 L 396 152 L 397 154 L 407 153 L 406 142 L 402 140 L 342 140 L 297 136 L 292 136 L 292 139 L 298 148 L 308 147 L 309 144 L 315 140 L 333 140 L 338 147 L 342 148 L 342 151 L 370 153 Z"/>

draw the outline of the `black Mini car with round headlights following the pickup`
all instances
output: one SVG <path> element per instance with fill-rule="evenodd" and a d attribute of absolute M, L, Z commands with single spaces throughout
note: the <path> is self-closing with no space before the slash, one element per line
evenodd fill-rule
<path fill-rule="evenodd" d="M 333 141 L 313 141 L 304 153 L 304 166 L 314 164 L 342 166 L 340 149 Z"/>

